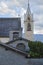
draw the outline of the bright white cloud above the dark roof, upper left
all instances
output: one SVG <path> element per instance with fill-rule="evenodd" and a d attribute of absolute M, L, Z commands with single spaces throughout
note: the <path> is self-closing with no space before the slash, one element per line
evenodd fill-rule
<path fill-rule="evenodd" d="M 14 9 L 13 10 L 10 9 L 5 2 L 1 1 L 0 2 L 0 14 L 6 15 L 8 13 L 9 13 L 9 15 L 11 15 L 13 17 L 18 16 L 18 14 L 16 13 L 16 11 Z"/>

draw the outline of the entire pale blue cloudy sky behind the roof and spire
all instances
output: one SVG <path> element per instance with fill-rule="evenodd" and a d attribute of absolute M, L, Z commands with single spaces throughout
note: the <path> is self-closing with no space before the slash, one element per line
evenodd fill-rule
<path fill-rule="evenodd" d="M 27 5 L 28 0 L 0 0 L 0 18 L 20 16 L 24 26 Z M 43 34 L 43 0 L 29 0 L 29 5 L 33 14 L 34 34 Z"/>

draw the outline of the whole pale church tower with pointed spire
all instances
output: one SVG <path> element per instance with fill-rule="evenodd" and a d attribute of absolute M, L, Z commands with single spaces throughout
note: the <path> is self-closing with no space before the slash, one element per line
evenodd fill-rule
<path fill-rule="evenodd" d="M 27 12 L 24 15 L 24 37 L 30 41 L 33 41 L 33 15 L 30 11 L 29 1 Z"/>

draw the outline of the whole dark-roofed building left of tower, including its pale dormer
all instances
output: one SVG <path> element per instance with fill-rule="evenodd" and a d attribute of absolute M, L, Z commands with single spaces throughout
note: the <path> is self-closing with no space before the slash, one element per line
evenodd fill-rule
<path fill-rule="evenodd" d="M 21 18 L 0 18 L 0 40 L 8 41 L 22 36 Z"/>

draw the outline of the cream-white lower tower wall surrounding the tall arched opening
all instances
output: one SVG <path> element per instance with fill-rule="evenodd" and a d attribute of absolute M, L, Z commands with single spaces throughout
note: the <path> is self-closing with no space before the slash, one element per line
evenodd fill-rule
<path fill-rule="evenodd" d="M 25 22 L 24 25 L 25 25 L 25 33 L 24 33 L 24 37 L 28 40 L 31 40 L 33 41 L 33 22 L 30 23 L 31 24 L 31 30 L 30 31 L 27 31 L 27 25 L 28 25 L 28 22 Z"/>

